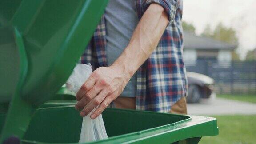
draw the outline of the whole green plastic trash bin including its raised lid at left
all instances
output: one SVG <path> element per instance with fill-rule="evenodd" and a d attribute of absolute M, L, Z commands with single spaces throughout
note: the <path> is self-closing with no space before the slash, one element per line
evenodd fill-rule
<path fill-rule="evenodd" d="M 0 0 L 0 143 L 77 143 L 72 94 L 57 93 L 72 73 L 107 0 Z M 102 143 L 197 143 L 218 134 L 216 119 L 107 109 Z"/>

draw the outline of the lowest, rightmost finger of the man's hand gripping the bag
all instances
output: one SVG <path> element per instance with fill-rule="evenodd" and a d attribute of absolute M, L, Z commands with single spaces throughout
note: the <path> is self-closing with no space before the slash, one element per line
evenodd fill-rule
<path fill-rule="evenodd" d="M 107 107 L 108 105 L 114 100 L 112 95 L 109 95 L 103 100 L 103 102 L 100 104 L 99 108 L 97 108 L 92 114 L 91 118 L 95 119 L 98 117 Z"/>

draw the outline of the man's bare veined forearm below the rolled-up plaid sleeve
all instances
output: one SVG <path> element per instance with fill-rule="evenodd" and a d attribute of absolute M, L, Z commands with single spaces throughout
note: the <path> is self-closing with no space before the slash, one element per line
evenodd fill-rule
<path fill-rule="evenodd" d="M 154 51 L 167 25 L 168 17 L 164 8 L 158 4 L 150 4 L 128 46 L 111 67 L 122 68 L 131 77 Z"/>

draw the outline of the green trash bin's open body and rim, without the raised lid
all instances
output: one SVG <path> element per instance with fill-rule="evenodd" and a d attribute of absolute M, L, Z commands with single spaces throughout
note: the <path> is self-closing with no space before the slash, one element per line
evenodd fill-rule
<path fill-rule="evenodd" d="M 211 117 L 113 108 L 107 108 L 102 116 L 109 138 L 93 143 L 197 144 L 202 136 L 218 134 L 216 119 Z M 4 117 L 1 113 L 0 124 Z M 32 117 L 22 142 L 77 143 L 81 124 L 82 117 L 74 106 L 40 108 Z"/>

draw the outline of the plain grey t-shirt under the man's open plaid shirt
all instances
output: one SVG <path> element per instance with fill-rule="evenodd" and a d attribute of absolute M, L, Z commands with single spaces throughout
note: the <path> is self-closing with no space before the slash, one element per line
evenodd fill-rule
<path fill-rule="evenodd" d="M 128 45 L 132 32 L 139 22 L 135 0 L 109 0 L 105 11 L 107 59 L 111 65 Z M 135 97 L 137 86 L 136 73 L 120 96 Z"/>

